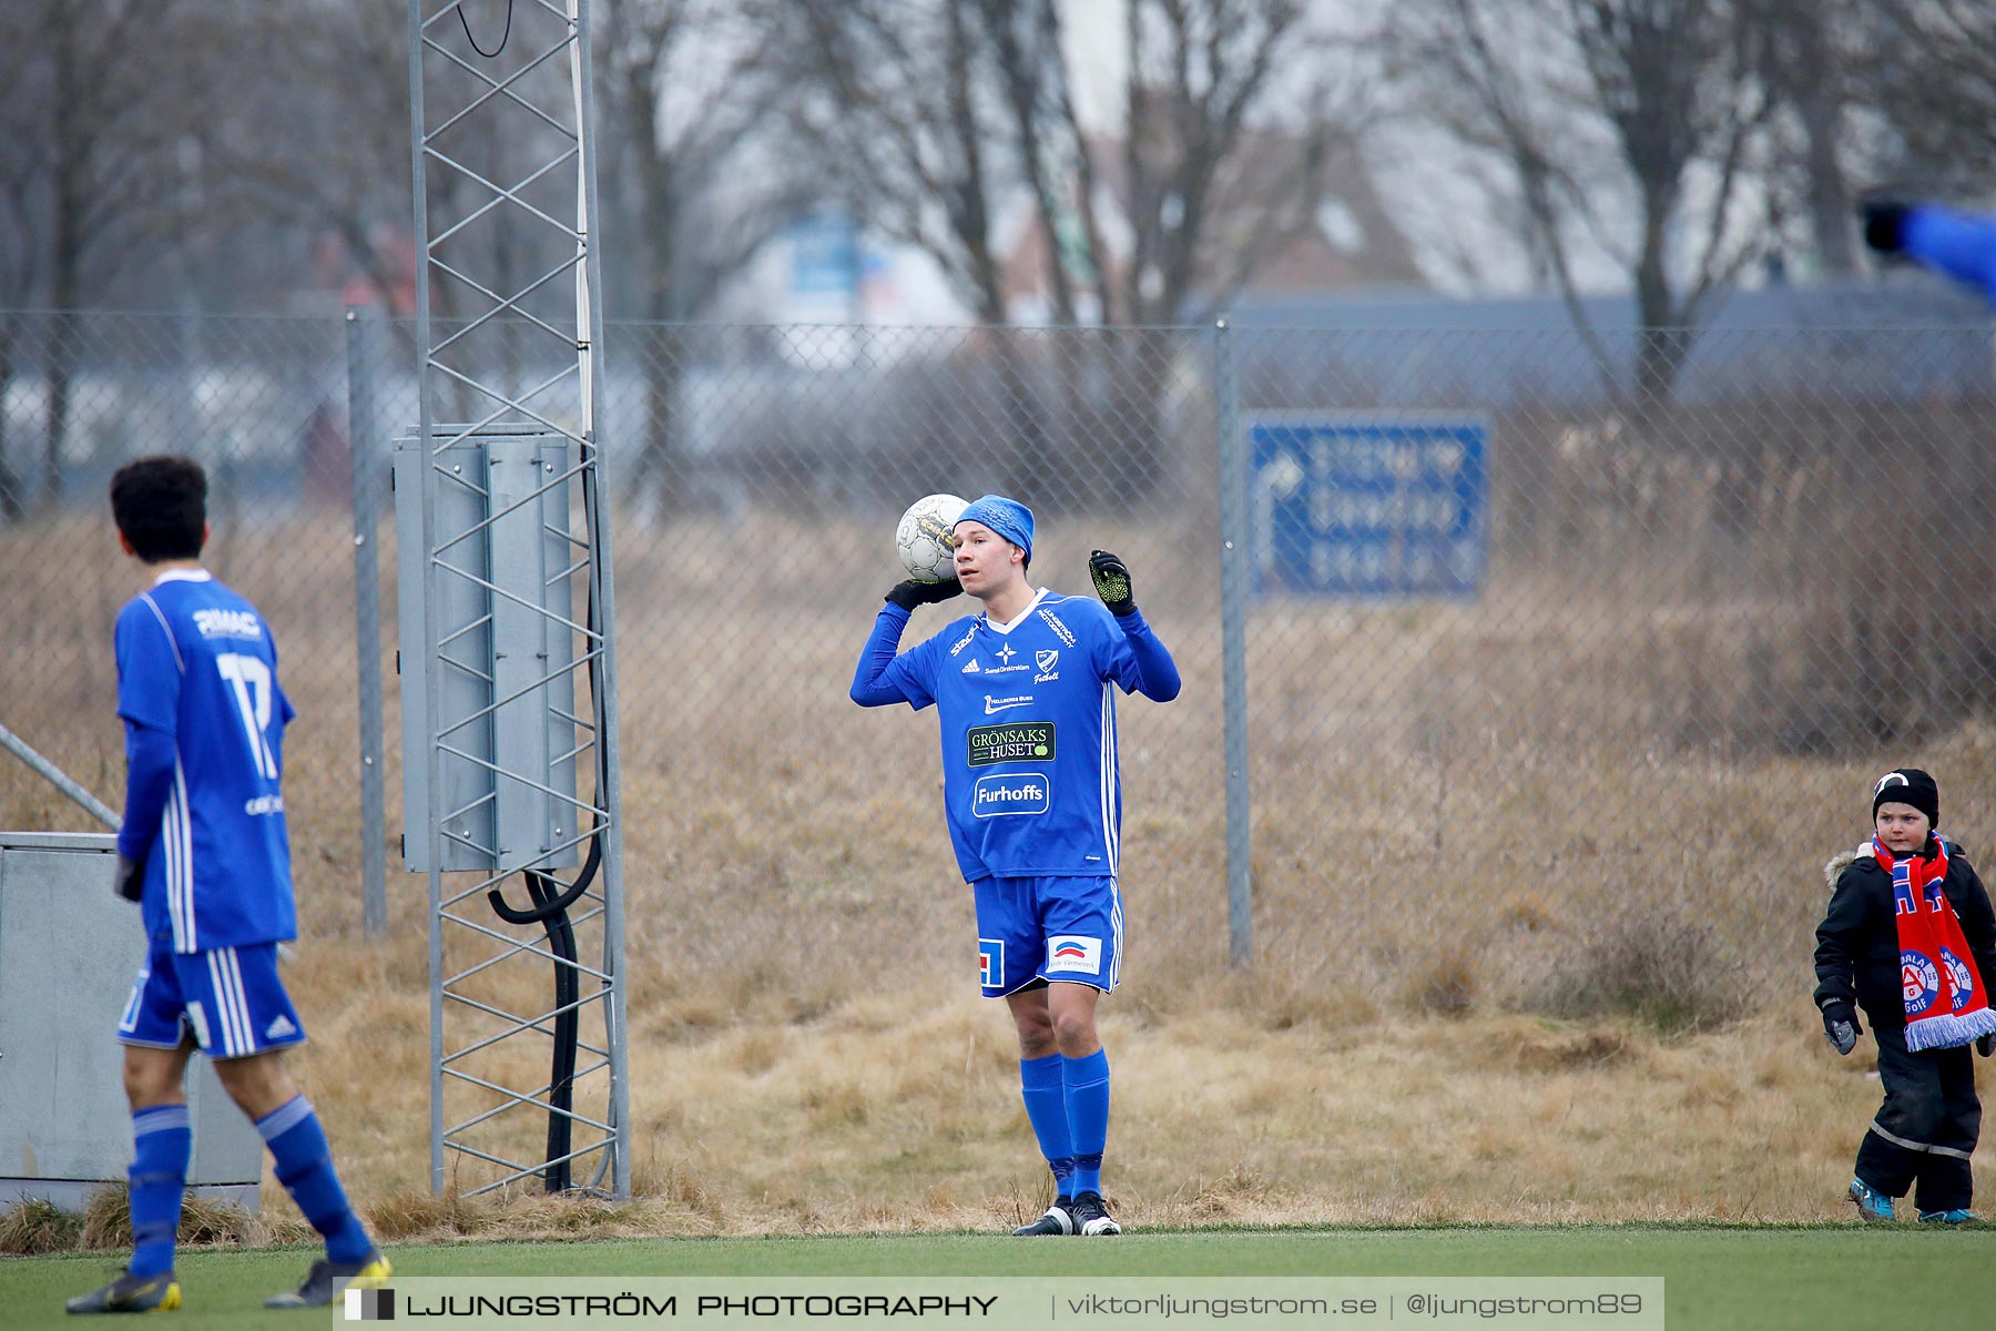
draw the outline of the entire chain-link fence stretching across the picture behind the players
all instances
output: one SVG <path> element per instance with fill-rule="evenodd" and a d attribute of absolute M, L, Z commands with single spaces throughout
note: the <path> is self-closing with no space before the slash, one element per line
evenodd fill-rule
<path fill-rule="evenodd" d="M 900 577 L 894 519 L 930 491 L 1030 503 L 1054 589 L 1086 591 L 1094 547 L 1124 555 L 1186 676 L 1170 706 L 1122 704 L 1138 1006 L 1222 974 L 1232 940 L 1273 1020 L 1323 994 L 1719 1018 L 1806 994 L 1818 866 L 1864 834 L 1880 770 L 1934 770 L 1970 850 L 1996 828 L 1986 327 L 1581 335 L 1435 309 L 1395 329 L 613 325 L 633 974 L 798 1012 L 886 966 L 968 984 L 934 720 L 846 700 Z M 136 585 L 104 481 L 146 451 L 204 457 L 210 563 L 277 625 L 301 710 L 307 920 L 357 920 L 349 369 L 379 459 L 417 415 L 409 329 L 4 327 L 0 718 L 116 804 L 108 633 Z M 1251 938 L 1230 918 L 1230 702 Z M 0 818 L 78 822 L 8 768 Z M 413 890 L 397 902 L 419 918 Z"/>

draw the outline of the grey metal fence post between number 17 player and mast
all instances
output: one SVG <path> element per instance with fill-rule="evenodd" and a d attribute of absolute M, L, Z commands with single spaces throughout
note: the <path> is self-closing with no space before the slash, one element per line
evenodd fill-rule
<path fill-rule="evenodd" d="M 381 792 L 381 565 L 375 533 L 383 439 L 375 413 L 379 327 L 371 311 L 347 307 L 347 455 L 353 471 L 353 653 L 359 661 L 361 740 L 361 926 L 387 930 L 387 816 Z"/>

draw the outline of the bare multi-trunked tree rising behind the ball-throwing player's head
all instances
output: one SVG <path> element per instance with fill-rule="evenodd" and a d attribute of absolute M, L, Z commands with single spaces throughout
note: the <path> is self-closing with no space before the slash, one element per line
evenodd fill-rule
<path fill-rule="evenodd" d="M 986 325 L 1008 319 L 996 227 L 1018 202 L 1042 237 L 1056 319 L 1176 325 L 1210 317 L 1317 227 L 1337 154 L 1351 152 L 1325 78 L 1337 64 L 1299 0 L 1130 0 L 1120 138 L 1076 114 L 1054 0 L 794 8 L 810 34 L 804 78 L 822 90 L 808 118 L 820 150 L 868 223 L 928 251 Z M 988 341 L 1014 465 L 1044 475 L 1040 395 L 1016 339 Z M 1154 341 L 1092 343 L 1114 361 L 1114 401 L 1082 431 L 1096 457 L 1070 485 L 1128 495 L 1156 475 L 1172 357 Z M 1060 367 L 1070 417 L 1072 369 Z"/>

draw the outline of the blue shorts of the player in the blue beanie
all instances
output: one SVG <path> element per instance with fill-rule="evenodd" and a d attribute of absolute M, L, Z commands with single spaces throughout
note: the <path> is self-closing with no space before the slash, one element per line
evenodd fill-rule
<path fill-rule="evenodd" d="M 1036 980 L 1104 994 L 1122 978 L 1122 896 L 1114 878 L 978 878 L 978 978 L 984 998 Z"/>

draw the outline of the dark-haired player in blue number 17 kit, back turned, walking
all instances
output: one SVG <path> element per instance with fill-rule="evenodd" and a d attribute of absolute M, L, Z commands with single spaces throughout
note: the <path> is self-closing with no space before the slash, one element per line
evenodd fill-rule
<path fill-rule="evenodd" d="M 255 607 L 202 569 L 208 477 L 186 457 L 142 457 L 112 477 L 112 517 L 152 587 L 118 613 L 126 808 L 112 888 L 138 902 L 146 962 L 118 1022 L 132 1104 L 132 1263 L 72 1313 L 180 1307 L 174 1237 L 194 1135 L 184 1078 L 200 1048 L 255 1121 L 277 1181 L 325 1235 L 297 1291 L 263 1307 L 325 1307 L 379 1285 L 389 1263 L 333 1171 L 311 1102 L 283 1070 L 305 1030 L 277 978 L 297 938 L 283 820 L 277 649 Z"/>

